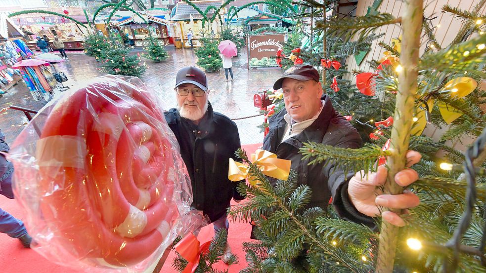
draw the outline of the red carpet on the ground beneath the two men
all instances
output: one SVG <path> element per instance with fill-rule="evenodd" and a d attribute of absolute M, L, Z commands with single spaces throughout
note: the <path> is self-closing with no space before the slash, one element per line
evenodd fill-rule
<path fill-rule="evenodd" d="M 243 148 L 247 153 L 253 153 L 262 144 L 250 144 L 243 145 Z M 234 202 L 231 203 L 234 205 Z M 23 219 L 24 212 L 19 208 L 15 200 L 7 199 L 0 195 L 0 207 L 12 214 L 13 216 Z M 213 225 L 209 225 L 205 228 L 213 229 Z M 235 223 L 229 224 L 228 241 L 233 253 L 238 256 L 239 264 L 229 267 L 222 263 L 217 265 L 217 269 L 228 269 L 229 273 L 237 273 L 241 269 L 247 266 L 245 260 L 245 252 L 241 249 L 241 244 L 245 241 L 250 241 L 251 226 L 249 223 Z M 160 271 L 161 273 L 175 273 L 172 269 L 172 261 L 174 260 L 175 253 L 171 252 L 167 258 L 164 267 Z M 24 248 L 19 240 L 10 238 L 7 234 L 0 234 L 0 272 L 1 273 L 79 273 L 82 271 L 73 270 L 57 264 L 54 264 L 46 260 L 41 255 L 37 254 L 32 249 Z M 90 270 L 90 273 L 96 271 Z"/>

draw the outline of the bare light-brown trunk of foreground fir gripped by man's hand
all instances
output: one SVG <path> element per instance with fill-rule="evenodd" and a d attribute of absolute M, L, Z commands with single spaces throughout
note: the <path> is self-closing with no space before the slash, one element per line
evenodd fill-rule
<path fill-rule="evenodd" d="M 395 183 L 395 174 L 405 168 L 406 152 L 412 127 L 412 113 L 417 93 L 417 65 L 419 62 L 420 34 L 422 32 L 423 2 L 407 0 L 402 13 L 402 42 L 398 72 L 398 94 L 395 105 L 394 124 L 392 129 L 392 155 L 388 157 L 388 179 L 384 185 L 384 194 L 398 195 L 403 188 Z M 383 208 L 383 210 L 387 210 Z M 392 210 L 400 213 L 399 210 Z M 391 273 L 397 248 L 398 227 L 385 221 L 380 229 L 380 245 L 376 262 L 376 273 Z"/>

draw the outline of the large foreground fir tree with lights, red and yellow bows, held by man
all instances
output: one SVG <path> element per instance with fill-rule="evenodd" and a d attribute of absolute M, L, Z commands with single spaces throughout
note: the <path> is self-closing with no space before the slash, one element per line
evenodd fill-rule
<path fill-rule="evenodd" d="M 486 117 L 479 107 L 486 94 L 477 88 L 477 82 L 486 77 L 486 18 L 481 14 L 485 2 L 480 1 L 469 12 L 443 7 L 444 12 L 452 12 L 465 22 L 456 39 L 443 49 L 435 40 L 429 22 L 422 20 L 421 0 L 407 1 L 400 18 L 378 14 L 346 20 L 333 17 L 318 22 L 317 26 L 325 30 L 325 37 L 347 31 L 343 42 L 348 42 L 354 35 L 366 38 L 377 26 L 399 20 L 403 38 L 391 45 L 381 44 L 389 52 L 384 60 L 375 62 L 375 73 L 360 75 L 359 78 L 368 78 L 364 82 L 357 80 L 359 91 L 336 91 L 331 86 L 335 73 L 342 66 L 335 68 L 330 57 L 338 54 L 328 50 L 322 55 L 309 52 L 308 63 L 314 60 L 315 65 L 315 61 L 324 57 L 325 61 L 320 64 L 325 72 L 323 81 L 336 109 L 348 115 L 352 122 L 369 127 L 373 134 L 372 143 L 361 149 L 337 149 L 309 143 L 301 152 L 311 163 L 329 160 L 336 168 L 348 172 L 373 171 L 376 162 L 383 162 L 383 157 L 389 156 L 386 163 L 389 177 L 393 177 L 404 166 L 404 152 L 407 149 L 419 151 L 423 160 L 413 168 L 421 178 L 410 189 L 420 197 L 421 205 L 410 209 L 405 217 L 408 223 L 405 228 L 390 227 L 376 219 L 377 227 L 381 226 L 378 233 L 339 219 L 331 207 L 308 208 L 310 188 L 296 184 L 297 173 L 291 172 L 287 181 L 270 185 L 259 166 L 249 162 L 240 151 L 240 157 L 249 165 L 250 176 L 261 182 L 259 187 L 241 184 L 240 192 L 247 193 L 249 201 L 232 207 L 229 212 L 241 221 L 251 219 L 258 226 L 256 235 L 260 242 L 244 245 L 249 262 L 244 272 L 381 273 L 442 272 L 444 269 L 447 272 L 486 272 L 482 264 L 485 258 L 485 178 L 481 169 L 474 168 L 486 166 L 482 152 L 486 136 L 481 135 Z M 315 9 L 321 5 L 313 1 L 307 3 Z M 421 28 L 429 39 L 429 48 L 419 59 Z M 302 52 L 298 57 L 306 57 Z M 339 81 L 338 86 L 341 87 Z M 353 101 L 359 102 L 358 106 L 353 106 Z M 392 116 L 394 118 L 389 118 Z M 441 142 L 435 143 L 421 135 L 428 122 L 450 126 Z M 443 143 L 464 134 L 479 137 L 474 149 L 465 154 Z M 390 147 L 385 146 L 388 138 Z M 394 152 L 388 148 L 393 148 Z M 436 154 L 439 149 L 445 152 L 441 158 Z M 436 166 L 436 162 L 439 165 L 441 161 L 451 164 L 466 161 L 468 168 L 462 171 L 460 167 L 445 164 L 449 171 L 443 171 Z M 473 184 L 475 172 L 478 185 Z M 468 178 L 467 182 L 464 177 Z M 392 182 L 387 183 L 392 185 Z M 387 185 L 384 191 L 398 194 L 403 190 L 390 190 L 390 187 Z M 465 200 L 466 191 L 469 194 Z"/>

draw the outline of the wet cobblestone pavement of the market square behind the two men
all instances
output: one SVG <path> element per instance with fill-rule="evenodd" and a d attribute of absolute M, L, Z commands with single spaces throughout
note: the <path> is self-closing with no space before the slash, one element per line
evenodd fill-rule
<path fill-rule="evenodd" d="M 195 65 L 197 58 L 191 49 L 175 49 L 172 45 L 167 46 L 166 49 L 171 55 L 166 61 L 160 63 L 145 61 L 147 71 L 142 76 L 142 80 L 150 88 L 160 91 L 166 103 L 166 108 L 169 109 L 177 105 L 174 91 L 177 71 L 184 66 Z M 257 115 L 258 109 L 253 106 L 253 95 L 257 91 L 261 92 L 271 88 L 273 82 L 283 73 L 280 68 L 248 70 L 246 51 L 244 48 L 241 51 L 242 53 L 233 58 L 234 81 L 226 82 L 222 68 L 220 72 L 206 74 L 211 90 L 209 100 L 213 108 L 230 118 Z M 104 75 L 102 71 L 97 69 L 100 63 L 96 62 L 93 57 L 70 53 L 69 51 L 67 54 L 69 61 L 55 65 L 59 71 L 64 72 L 68 77 L 68 81 L 64 82 L 66 86 L 74 86 L 80 82 Z M 135 53 L 133 52 L 133 54 Z M 55 95 L 59 96 L 62 93 Z M 39 110 L 44 104 L 34 101 L 23 82 L 17 83 L 0 98 L 0 129 L 4 132 L 8 143 L 13 142 L 28 121 L 23 112 L 11 110 L 8 106 L 15 105 Z M 263 133 L 260 133 L 260 129 L 257 128 L 263 122 L 263 116 L 239 119 L 235 122 L 242 144 L 263 142 Z"/>

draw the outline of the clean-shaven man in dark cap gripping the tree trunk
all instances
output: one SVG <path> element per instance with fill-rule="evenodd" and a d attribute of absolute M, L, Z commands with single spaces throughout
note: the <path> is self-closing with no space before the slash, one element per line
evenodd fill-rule
<path fill-rule="evenodd" d="M 282 88 L 285 109 L 269 118 L 269 132 L 263 149 L 279 158 L 292 160 L 291 168 L 299 173 L 298 184 L 312 190 L 309 207 L 327 207 L 332 203 L 340 216 L 354 222 L 372 225 L 371 217 L 380 215 L 378 206 L 405 209 L 419 204 L 411 192 L 402 195 L 383 195 L 379 186 L 386 181 L 387 169 L 380 166 L 376 173 L 362 178 L 360 173 L 345 172 L 326 160 L 309 165 L 299 149 L 303 143 L 315 142 L 339 148 L 359 148 L 362 141 L 355 128 L 332 107 L 331 100 L 323 94 L 319 73 L 310 65 L 295 65 L 285 71 L 273 85 Z M 407 153 L 407 167 L 420 160 L 420 154 Z M 353 176 L 354 175 L 354 176 Z M 395 181 L 402 187 L 418 179 L 412 169 L 397 173 Z M 385 221 L 396 226 L 405 225 L 398 214 L 386 211 Z"/>

